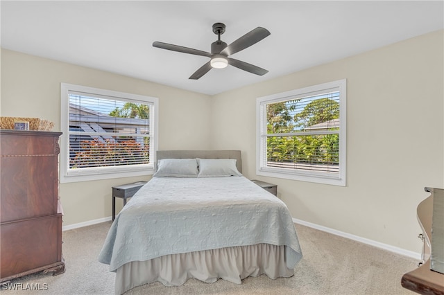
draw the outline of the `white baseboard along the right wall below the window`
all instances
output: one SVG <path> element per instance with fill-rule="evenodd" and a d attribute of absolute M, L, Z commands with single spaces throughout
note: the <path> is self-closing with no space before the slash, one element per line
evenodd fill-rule
<path fill-rule="evenodd" d="M 377 248 L 380 248 L 380 249 L 391 251 L 393 253 L 397 253 L 397 254 L 400 254 L 402 256 L 407 256 L 407 257 L 410 257 L 410 258 L 414 258 L 416 260 L 421 260 L 421 253 L 416 253 L 416 252 L 405 250 L 405 249 L 402 249 L 402 248 L 393 247 L 393 246 L 391 246 L 389 244 L 383 244 L 381 242 L 376 242 L 374 240 L 362 238 L 362 237 L 359 237 L 357 235 L 352 235 L 350 233 L 344 233 L 343 231 L 337 231 L 336 229 L 330 229 L 329 227 L 321 226 L 321 225 L 314 224 L 314 223 L 311 223 L 311 222 L 305 222 L 304 220 L 298 220 L 296 218 L 293 218 L 293 222 L 296 223 L 296 224 L 301 224 L 301 225 L 304 225 L 304 226 L 311 227 L 313 229 L 318 229 L 319 231 L 325 231 L 327 233 L 332 233 L 333 235 L 339 235 L 340 237 L 343 237 L 343 238 L 347 238 L 347 239 L 350 239 L 350 240 L 355 240 L 357 242 L 361 242 L 361 243 L 364 243 L 364 244 L 369 244 L 370 246 L 374 246 L 374 247 L 377 247 Z"/>

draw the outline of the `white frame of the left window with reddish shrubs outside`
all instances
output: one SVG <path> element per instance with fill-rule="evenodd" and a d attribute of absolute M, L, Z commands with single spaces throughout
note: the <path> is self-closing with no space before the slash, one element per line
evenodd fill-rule
<path fill-rule="evenodd" d="M 135 103 L 150 103 L 150 163 L 138 164 L 134 166 L 112 166 L 83 169 L 69 169 L 69 93 L 85 93 L 92 96 L 107 96 L 116 100 L 123 100 Z M 155 152 L 158 146 L 158 98 L 141 96 L 132 93 L 85 87 L 76 84 L 61 83 L 61 111 L 60 127 L 62 136 L 60 137 L 60 183 L 77 181 L 91 181 L 99 179 L 112 179 L 119 177 L 135 177 L 142 175 L 152 175 L 155 172 Z"/>

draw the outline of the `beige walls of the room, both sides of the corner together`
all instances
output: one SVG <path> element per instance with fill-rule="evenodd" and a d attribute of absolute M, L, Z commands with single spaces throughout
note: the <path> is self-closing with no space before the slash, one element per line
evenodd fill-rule
<path fill-rule="evenodd" d="M 293 217 L 420 251 L 416 206 L 444 188 L 443 31 L 214 97 L 3 50 L 1 116 L 53 120 L 60 82 L 155 96 L 160 149 L 239 149 L 255 175 L 256 98 L 347 79 L 347 186 L 260 177 L 278 184 Z M 64 226 L 110 216 L 110 187 L 139 178 L 60 184 Z M 148 177 L 146 178 L 148 179 Z"/>

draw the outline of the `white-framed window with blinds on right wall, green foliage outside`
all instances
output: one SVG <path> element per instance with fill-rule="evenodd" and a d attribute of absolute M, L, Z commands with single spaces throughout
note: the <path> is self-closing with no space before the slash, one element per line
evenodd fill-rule
<path fill-rule="evenodd" d="M 257 175 L 345 186 L 345 80 L 257 98 Z"/>

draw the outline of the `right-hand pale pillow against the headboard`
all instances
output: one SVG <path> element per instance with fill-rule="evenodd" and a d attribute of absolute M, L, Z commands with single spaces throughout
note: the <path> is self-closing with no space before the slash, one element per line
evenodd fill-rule
<path fill-rule="evenodd" d="M 197 159 L 197 177 L 242 176 L 236 168 L 236 159 Z"/>

